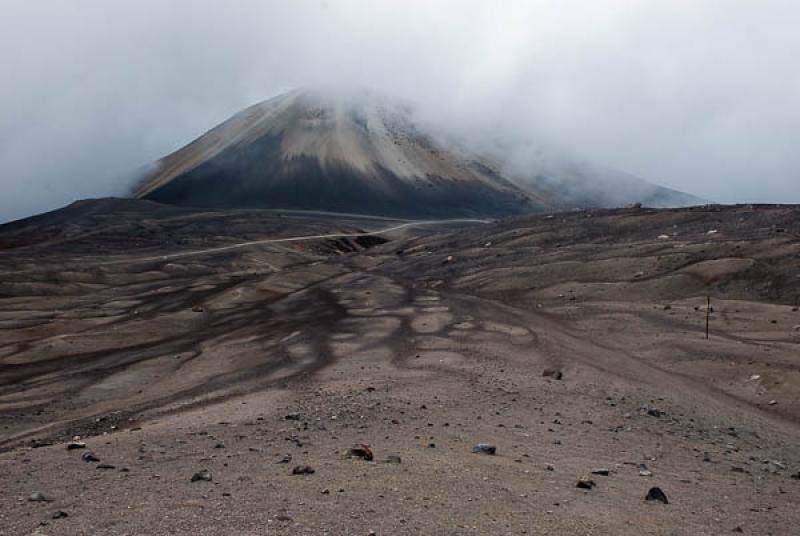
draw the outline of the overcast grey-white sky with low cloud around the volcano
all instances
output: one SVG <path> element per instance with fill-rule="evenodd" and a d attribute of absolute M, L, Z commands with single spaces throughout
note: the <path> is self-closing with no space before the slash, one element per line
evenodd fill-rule
<path fill-rule="evenodd" d="M 800 202 L 795 0 L 0 0 L 0 221 L 242 107 L 366 86 L 720 202 Z"/>

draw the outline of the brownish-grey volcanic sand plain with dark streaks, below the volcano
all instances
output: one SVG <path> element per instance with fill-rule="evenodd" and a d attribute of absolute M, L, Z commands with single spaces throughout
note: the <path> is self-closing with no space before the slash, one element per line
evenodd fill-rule
<path fill-rule="evenodd" d="M 114 233 L 92 217 L 69 243 L 0 228 L 16 240 L 0 250 L 0 534 L 800 526 L 796 208 L 582 211 L 140 261 L 192 249 L 198 226 L 205 247 L 233 243 L 225 218 L 250 222 L 240 241 L 292 232 L 259 211 L 148 217 L 157 239 L 125 250 L 144 213 Z M 74 435 L 114 468 L 68 451 Z M 375 460 L 348 458 L 355 443 Z M 202 469 L 212 481 L 191 482 Z M 653 486 L 669 504 L 644 500 Z"/>

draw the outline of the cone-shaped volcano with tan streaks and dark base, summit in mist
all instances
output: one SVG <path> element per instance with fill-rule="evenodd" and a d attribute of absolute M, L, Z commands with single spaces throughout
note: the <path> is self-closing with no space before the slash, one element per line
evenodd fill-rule
<path fill-rule="evenodd" d="M 405 101 L 317 90 L 234 115 L 157 162 L 133 196 L 188 207 L 439 218 L 701 202 L 563 158 L 510 172 L 502 158 L 434 134 Z"/>

